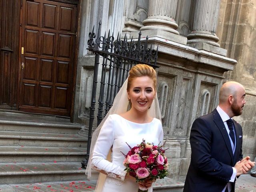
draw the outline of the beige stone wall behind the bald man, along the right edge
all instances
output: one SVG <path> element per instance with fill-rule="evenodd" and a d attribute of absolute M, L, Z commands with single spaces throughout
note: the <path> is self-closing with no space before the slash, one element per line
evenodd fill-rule
<path fill-rule="evenodd" d="M 256 154 L 256 0 L 222 0 L 216 34 L 227 55 L 236 59 L 225 81 L 234 80 L 246 89 L 243 114 L 235 117 L 243 128 L 243 153 L 252 160 Z"/>

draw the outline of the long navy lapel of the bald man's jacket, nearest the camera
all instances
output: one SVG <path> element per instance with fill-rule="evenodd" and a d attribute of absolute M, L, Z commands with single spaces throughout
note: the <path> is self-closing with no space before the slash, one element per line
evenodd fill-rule
<path fill-rule="evenodd" d="M 214 122 L 216 124 L 216 126 L 218 127 L 218 129 L 220 130 L 220 132 L 222 133 L 222 137 L 226 143 L 226 147 L 228 148 L 228 153 L 231 157 L 231 159 L 233 160 L 234 155 L 232 152 L 232 148 L 231 148 L 231 144 L 230 144 L 230 140 L 229 140 L 229 136 L 228 136 L 228 132 L 226 130 L 226 127 L 220 117 L 220 114 L 218 113 L 218 111 L 215 109 L 213 112 L 213 118 L 214 118 Z"/>

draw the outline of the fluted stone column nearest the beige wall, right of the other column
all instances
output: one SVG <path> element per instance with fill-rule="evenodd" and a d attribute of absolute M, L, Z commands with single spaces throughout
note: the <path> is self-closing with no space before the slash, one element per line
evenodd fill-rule
<path fill-rule="evenodd" d="M 220 0 L 192 0 L 190 30 L 187 44 L 198 48 L 200 43 L 220 47 L 217 43 L 216 26 L 218 22 Z M 197 46 L 197 47 L 196 47 Z M 201 45 L 202 47 L 202 45 Z"/>

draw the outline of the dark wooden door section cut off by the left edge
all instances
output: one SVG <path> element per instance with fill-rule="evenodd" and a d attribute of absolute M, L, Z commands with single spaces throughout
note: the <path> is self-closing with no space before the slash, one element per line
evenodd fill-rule
<path fill-rule="evenodd" d="M 0 109 L 17 109 L 20 2 L 0 0 Z"/>

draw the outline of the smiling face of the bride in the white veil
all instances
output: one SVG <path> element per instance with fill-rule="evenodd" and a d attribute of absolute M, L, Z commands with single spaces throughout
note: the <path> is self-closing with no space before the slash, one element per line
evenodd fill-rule
<path fill-rule="evenodd" d="M 133 109 L 140 112 L 147 111 L 156 94 L 154 81 L 148 76 L 136 77 L 132 80 L 130 90 L 127 93 Z"/>

